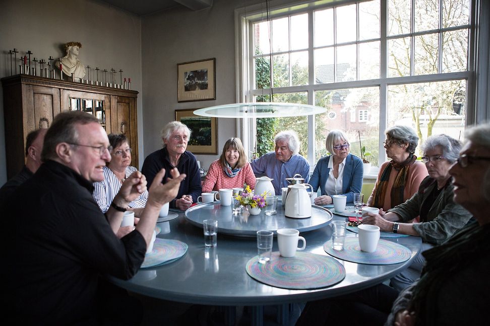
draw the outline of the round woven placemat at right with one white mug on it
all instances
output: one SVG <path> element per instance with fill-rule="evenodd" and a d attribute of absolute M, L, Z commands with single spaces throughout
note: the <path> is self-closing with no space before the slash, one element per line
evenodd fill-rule
<path fill-rule="evenodd" d="M 391 265 L 403 263 L 410 259 L 412 251 L 405 246 L 388 240 L 380 239 L 378 248 L 374 253 L 365 253 L 360 250 L 358 237 L 345 237 L 344 249 L 334 250 L 332 240 L 323 245 L 327 254 L 344 261 L 369 264 L 369 265 Z"/>

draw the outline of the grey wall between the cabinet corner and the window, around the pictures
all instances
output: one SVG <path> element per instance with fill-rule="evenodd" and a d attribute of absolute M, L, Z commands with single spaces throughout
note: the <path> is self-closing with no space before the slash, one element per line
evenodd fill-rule
<path fill-rule="evenodd" d="M 214 0 L 210 9 L 173 8 L 142 19 L 145 156 L 161 148 L 160 130 L 174 110 L 236 102 L 234 10 L 241 7 L 241 0 Z M 216 58 L 216 100 L 178 103 L 177 63 L 208 58 Z M 218 119 L 218 155 L 236 132 L 235 119 Z M 196 156 L 207 170 L 218 155 Z"/>

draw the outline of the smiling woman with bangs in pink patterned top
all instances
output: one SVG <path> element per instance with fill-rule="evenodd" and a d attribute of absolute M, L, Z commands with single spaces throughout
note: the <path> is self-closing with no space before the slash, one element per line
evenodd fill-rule
<path fill-rule="evenodd" d="M 239 138 L 231 137 L 224 146 L 219 159 L 209 166 L 203 192 L 220 189 L 243 188 L 247 184 L 255 187 L 255 175 Z"/>

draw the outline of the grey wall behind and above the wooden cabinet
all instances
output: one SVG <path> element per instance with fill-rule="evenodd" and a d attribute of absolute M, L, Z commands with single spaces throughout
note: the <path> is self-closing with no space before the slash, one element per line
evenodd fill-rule
<path fill-rule="evenodd" d="M 10 75 L 9 50 L 31 50 L 33 57 L 64 56 L 61 46 L 82 43 L 79 59 L 85 66 L 123 69 L 139 91 L 142 117 L 141 19 L 92 0 L 2 0 L 0 2 L 0 77 Z M 39 67 L 39 66 L 38 66 Z M 0 185 L 7 181 L 3 91 L 0 89 Z M 143 162 L 143 119 L 139 118 L 140 162 Z"/>

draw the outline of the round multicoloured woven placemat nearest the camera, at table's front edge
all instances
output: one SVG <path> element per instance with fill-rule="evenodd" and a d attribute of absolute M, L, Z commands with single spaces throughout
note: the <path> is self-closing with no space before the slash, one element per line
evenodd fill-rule
<path fill-rule="evenodd" d="M 279 252 L 274 252 L 266 264 L 260 264 L 256 256 L 247 262 L 245 269 L 250 277 L 259 282 L 295 290 L 332 286 L 345 277 L 344 267 L 335 259 L 299 252 L 291 258 L 281 257 Z"/>

